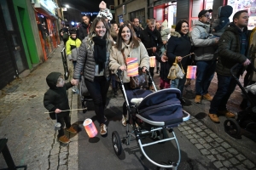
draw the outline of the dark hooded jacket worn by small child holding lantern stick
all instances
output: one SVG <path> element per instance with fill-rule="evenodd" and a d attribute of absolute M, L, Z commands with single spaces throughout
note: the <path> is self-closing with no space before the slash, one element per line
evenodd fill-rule
<path fill-rule="evenodd" d="M 67 82 L 63 87 L 56 87 L 58 78 L 60 76 L 60 72 L 51 72 L 48 77 L 46 77 L 46 82 L 49 86 L 49 89 L 44 94 L 44 107 L 48 111 L 55 111 L 56 109 L 60 109 L 63 112 L 59 114 L 64 115 L 69 113 L 69 111 L 64 110 L 70 110 L 68 105 L 67 89 L 73 87 L 73 85 L 71 82 Z"/>

